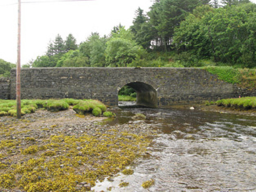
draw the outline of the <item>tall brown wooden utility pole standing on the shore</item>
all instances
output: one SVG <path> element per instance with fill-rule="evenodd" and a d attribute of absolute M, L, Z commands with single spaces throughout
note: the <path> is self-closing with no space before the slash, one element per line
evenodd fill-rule
<path fill-rule="evenodd" d="M 18 0 L 18 47 L 16 70 L 17 118 L 21 118 L 21 0 Z"/>

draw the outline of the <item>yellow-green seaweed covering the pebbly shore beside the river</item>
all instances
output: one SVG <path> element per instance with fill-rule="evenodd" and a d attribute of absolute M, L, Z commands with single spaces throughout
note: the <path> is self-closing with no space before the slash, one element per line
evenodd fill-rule
<path fill-rule="evenodd" d="M 97 180 L 124 170 L 150 143 L 149 133 L 132 132 L 137 125 L 130 132 L 120 126 L 102 131 L 88 123 L 79 130 L 93 133 L 70 135 L 63 131 L 68 125 L 51 128 L 56 121 L 47 128 L 6 122 L 0 122 L 0 191 L 88 191 Z"/>

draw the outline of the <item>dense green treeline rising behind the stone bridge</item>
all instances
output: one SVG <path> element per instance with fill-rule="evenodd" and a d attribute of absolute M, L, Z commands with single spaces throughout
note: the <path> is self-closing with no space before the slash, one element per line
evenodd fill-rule
<path fill-rule="evenodd" d="M 256 67 L 256 4 L 248 0 L 155 0 L 129 29 L 71 34 L 24 67 Z"/>

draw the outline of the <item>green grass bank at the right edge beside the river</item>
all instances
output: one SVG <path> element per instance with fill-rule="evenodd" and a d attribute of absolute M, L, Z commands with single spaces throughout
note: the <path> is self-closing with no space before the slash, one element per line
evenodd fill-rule
<path fill-rule="evenodd" d="M 230 98 L 216 101 L 218 106 L 237 109 L 256 109 L 256 97 Z"/>

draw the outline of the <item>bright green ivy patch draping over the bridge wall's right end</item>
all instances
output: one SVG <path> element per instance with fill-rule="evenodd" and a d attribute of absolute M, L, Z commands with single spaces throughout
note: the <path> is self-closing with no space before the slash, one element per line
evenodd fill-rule
<path fill-rule="evenodd" d="M 238 69 L 233 67 L 208 66 L 203 67 L 203 69 L 207 70 L 209 73 L 216 74 L 220 80 L 227 83 L 241 83 L 241 73 L 238 71 Z"/>

